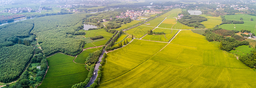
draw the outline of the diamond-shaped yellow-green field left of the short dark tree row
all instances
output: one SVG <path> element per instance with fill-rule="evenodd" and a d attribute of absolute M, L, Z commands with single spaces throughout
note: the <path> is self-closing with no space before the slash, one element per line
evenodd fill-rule
<path fill-rule="evenodd" d="M 125 32 L 128 34 L 133 34 L 134 38 L 141 38 L 143 35 L 148 33 L 148 30 L 150 30 L 150 29 L 152 30 L 153 27 L 137 26 L 137 27 L 127 30 Z"/>

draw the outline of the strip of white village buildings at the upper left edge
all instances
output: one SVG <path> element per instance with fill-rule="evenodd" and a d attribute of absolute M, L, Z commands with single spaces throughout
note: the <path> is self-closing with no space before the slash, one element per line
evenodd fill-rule
<path fill-rule="evenodd" d="M 0 13 L 23 13 L 23 11 L 31 12 L 33 9 L 30 7 L 23 7 L 23 8 L 12 8 L 12 9 L 5 9 L 0 11 Z"/>

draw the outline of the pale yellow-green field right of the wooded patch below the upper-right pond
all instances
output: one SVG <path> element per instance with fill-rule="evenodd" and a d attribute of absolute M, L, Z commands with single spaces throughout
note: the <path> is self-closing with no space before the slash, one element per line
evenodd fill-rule
<path fill-rule="evenodd" d="M 207 18 L 207 21 L 201 22 L 205 28 L 214 28 L 216 25 L 221 24 L 221 17 L 213 17 L 213 16 L 206 16 L 206 15 L 200 15 L 202 17 Z"/>

